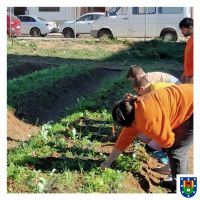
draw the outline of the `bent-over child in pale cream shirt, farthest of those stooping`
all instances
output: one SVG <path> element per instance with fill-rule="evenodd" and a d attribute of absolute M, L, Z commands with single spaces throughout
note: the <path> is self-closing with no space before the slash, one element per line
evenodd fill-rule
<path fill-rule="evenodd" d="M 145 73 L 142 67 L 138 65 L 130 66 L 127 74 L 127 78 L 130 81 L 134 81 L 136 78 L 145 77 L 150 83 L 165 82 L 178 84 L 180 81 L 175 76 L 164 72 L 148 72 Z"/>

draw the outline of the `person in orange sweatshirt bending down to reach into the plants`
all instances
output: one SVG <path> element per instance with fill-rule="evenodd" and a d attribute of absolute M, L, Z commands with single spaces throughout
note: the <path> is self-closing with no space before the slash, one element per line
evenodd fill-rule
<path fill-rule="evenodd" d="M 193 143 L 192 84 L 173 85 L 142 97 L 122 99 L 112 115 L 124 128 L 101 168 L 110 167 L 132 140 L 144 133 L 167 152 L 173 180 L 160 185 L 175 190 L 176 175 L 187 173 L 187 152 Z"/>

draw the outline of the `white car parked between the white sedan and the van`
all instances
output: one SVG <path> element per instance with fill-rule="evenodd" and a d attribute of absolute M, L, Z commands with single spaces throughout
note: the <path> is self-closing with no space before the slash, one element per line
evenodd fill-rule
<path fill-rule="evenodd" d="M 79 34 L 89 34 L 92 23 L 105 15 L 104 12 L 87 13 L 80 16 L 77 20 L 65 21 L 58 26 L 59 32 L 67 38 L 73 38 Z"/>

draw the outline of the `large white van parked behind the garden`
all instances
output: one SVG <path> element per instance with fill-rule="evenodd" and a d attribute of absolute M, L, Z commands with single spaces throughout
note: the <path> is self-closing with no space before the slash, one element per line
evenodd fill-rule
<path fill-rule="evenodd" d="M 190 7 L 113 7 L 91 27 L 93 37 L 161 37 L 173 41 L 181 36 L 179 22 L 191 17 Z"/>

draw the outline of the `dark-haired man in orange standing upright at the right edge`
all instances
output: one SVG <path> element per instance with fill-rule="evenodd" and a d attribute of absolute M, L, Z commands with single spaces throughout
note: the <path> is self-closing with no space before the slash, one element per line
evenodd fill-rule
<path fill-rule="evenodd" d="M 189 37 L 184 51 L 184 72 L 181 81 L 193 83 L 193 19 L 186 17 L 179 23 L 179 28 L 185 37 Z"/>

